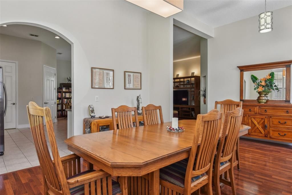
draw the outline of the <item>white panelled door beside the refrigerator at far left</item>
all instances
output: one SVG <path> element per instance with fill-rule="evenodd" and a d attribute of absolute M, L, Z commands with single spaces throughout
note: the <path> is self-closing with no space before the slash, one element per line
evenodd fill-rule
<path fill-rule="evenodd" d="M 6 87 L 7 111 L 4 129 L 16 128 L 16 63 L 0 61 L 3 67 L 3 82 Z"/>

